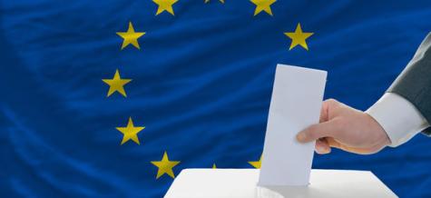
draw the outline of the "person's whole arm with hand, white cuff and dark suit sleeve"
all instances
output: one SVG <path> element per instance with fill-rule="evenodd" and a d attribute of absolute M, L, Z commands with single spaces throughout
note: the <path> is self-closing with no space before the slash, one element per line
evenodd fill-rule
<path fill-rule="evenodd" d="M 316 142 L 318 153 L 330 147 L 351 153 L 377 153 L 423 131 L 431 134 L 431 33 L 397 80 L 367 112 L 336 100 L 323 103 L 319 124 L 297 134 L 300 143 Z"/>

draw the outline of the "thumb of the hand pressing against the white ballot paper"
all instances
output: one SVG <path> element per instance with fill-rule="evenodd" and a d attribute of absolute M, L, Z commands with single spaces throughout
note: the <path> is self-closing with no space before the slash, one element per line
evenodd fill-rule
<path fill-rule="evenodd" d="M 309 143 L 315 141 L 318 138 L 328 137 L 334 134 L 336 131 L 336 124 L 332 121 L 328 121 L 320 124 L 310 125 L 308 128 L 297 134 L 299 143 Z"/>

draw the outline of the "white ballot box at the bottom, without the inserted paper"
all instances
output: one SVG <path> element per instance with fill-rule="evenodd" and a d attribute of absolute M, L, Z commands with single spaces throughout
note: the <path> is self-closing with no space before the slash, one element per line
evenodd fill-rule
<path fill-rule="evenodd" d="M 313 169 L 307 186 L 260 186 L 259 172 L 259 169 L 184 169 L 165 197 L 397 197 L 369 171 Z"/>

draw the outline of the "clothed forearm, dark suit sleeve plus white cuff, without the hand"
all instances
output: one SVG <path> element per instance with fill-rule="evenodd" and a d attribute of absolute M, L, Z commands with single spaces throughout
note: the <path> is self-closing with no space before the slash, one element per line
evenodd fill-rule
<path fill-rule="evenodd" d="M 404 144 L 423 130 L 431 134 L 431 33 L 367 114 L 385 129 L 391 146 Z"/>

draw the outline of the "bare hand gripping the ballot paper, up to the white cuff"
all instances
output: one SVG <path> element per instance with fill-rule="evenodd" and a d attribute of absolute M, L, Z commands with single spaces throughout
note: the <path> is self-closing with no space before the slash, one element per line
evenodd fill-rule
<path fill-rule="evenodd" d="M 317 153 L 335 147 L 351 153 L 377 153 L 390 144 L 385 130 L 370 115 L 329 99 L 323 102 L 319 124 L 297 135 L 300 143 L 316 140 Z"/>

